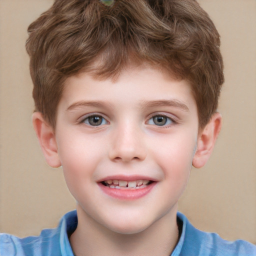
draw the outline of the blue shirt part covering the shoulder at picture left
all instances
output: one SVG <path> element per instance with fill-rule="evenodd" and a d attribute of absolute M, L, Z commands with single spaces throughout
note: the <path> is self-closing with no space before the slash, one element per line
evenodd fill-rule
<path fill-rule="evenodd" d="M 58 227 L 43 229 L 38 236 L 19 238 L 0 233 L 0 256 L 72 255 L 67 233 L 76 225 L 76 211 L 71 211 L 61 218 Z"/>

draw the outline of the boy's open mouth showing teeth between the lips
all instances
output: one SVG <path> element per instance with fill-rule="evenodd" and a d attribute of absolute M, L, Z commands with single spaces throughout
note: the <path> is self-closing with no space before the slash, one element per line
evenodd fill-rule
<path fill-rule="evenodd" d="M 109 179 L 100 182 L 104 186 L 110 188 L 117 188 L 117 189 L 139 189 L 144 188 L 147 185 L 151 184 L 152 180 L 145 180 L 145 179 L 138 179 L 138 180 L 117 180 L 117 179 Z"/>

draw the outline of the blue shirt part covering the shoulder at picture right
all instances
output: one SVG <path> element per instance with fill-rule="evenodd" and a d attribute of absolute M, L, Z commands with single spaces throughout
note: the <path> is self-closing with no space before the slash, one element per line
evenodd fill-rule
<path fill-rule="evenodd" d="M 183 239 L 181 255 L 197 256 L 255 256 L 256 245 L 244 240 L 227 241 L 216 233 L 201 231 L 178 213 L 183 227 L 181 237 Z"/>

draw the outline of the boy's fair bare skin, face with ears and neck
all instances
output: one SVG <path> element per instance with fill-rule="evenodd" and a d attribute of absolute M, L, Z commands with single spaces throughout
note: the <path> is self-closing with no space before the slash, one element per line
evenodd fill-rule
<path fill-rule="evenodd" d="M 186 80 L 150 66 L 126 68 L 115 80 L 80 73 L 65 82 L 55 130 L 39 112 L 33 125 L 77 201 L 77 256 L 170 255 L 177 201 L 221 127 L 215 113 L 199 128 Z"/>

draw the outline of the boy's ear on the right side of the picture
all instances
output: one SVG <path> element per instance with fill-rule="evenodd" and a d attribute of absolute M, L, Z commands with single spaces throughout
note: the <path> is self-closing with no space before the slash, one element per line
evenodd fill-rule
<path fill-rule="evenodd" d="M 209 159 L 221 125 L 221 114 L 214 113 L 209 122 L 199 131 L 197 147 L 192 161 L 195 168 L 202 167 Z"/>

